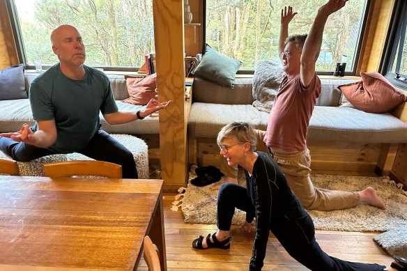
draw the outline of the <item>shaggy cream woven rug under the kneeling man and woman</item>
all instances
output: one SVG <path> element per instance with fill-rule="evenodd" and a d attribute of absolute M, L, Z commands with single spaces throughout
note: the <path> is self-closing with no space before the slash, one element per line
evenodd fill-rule
<path fill-rule="evenodd" d="M 190 180 L 195 178 L 195 167 L 191 168 Z M 239 184 L 245 186 L 243 172 L 239 171 Z M 220 180 L 220 182 L 223 181 Z M 313 174 L 316 187 L 358 191 L 367 186 L 374 187 L 378 196 L 387 206 L 381 210 L 366 204 L 346 210 L 329 212 L 309 210 L 316 229 L 330 231 L 388 231 L 407 226 L 407 193 L 401 186 L 387 177 L 333 176 Z M 181 188 L 171 210 L 183 210 L 186 223 L 216 224 L 217 191 L 206 187 L 196 187 L 190 182 L 187 189 Z M 240 224 L 245 212 L 236 209 L 233 224 Z"/>

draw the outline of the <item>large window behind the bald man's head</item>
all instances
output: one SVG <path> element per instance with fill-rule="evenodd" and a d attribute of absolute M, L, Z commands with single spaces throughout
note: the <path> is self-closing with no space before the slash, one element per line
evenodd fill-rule
<path fill-rule="evenodd" d="M 86 46 L 86 65 L 119 69 L 139 67 L 154 51 L 152 0 L 10 0 L 20 57 L 32 65 L 58 62 L 49 36 L 72 24 Z"/>

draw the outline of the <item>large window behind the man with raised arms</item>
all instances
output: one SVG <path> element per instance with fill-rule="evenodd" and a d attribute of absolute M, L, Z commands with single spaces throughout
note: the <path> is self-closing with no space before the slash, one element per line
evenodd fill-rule
<path fill-rule="evenodd" d="M 298 12 L 289 34 L 308 33 L 318 8 L 326 0 L 206 0 L 206 43 L 221 54 L 243 62 L 241 70 L 254 70 L 259 59 L 279 62 L 278 40 L 281 10 L 293 6 Z M 346 62 L 348 74 L 355 73 L 356 60 L 369 0 L 348 1 L 330 15 L 323 33 L 319 74 L 331 74 L 337 62 Z M 328 72 L 329 71 L 329 72 Z"/>

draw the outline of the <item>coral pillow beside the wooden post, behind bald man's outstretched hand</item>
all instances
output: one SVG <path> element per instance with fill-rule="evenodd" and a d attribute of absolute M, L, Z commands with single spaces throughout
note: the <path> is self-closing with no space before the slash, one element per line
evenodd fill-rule
<path fill-rule="evenodd" d="M 155 95 L 157 95 L 155 92 L 155 88 L 157 88 L 155 78 L 155 73 L 144 78 L 125 76 L 130 98 L 127 98 L 122 102 L 135 105 L 146 105 L 152 98 L 155 98 Z"/>

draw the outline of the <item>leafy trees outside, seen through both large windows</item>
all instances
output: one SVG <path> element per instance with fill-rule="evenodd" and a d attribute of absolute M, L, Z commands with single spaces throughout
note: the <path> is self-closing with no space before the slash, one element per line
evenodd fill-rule
<path fill-rule="evenodd" d="M 317 70 L 333 70 L 342 59 L 346 59 L 346 67 L 351 70 L 365 1 L 348 1 L 345 8 L 328 18 Z M 282 8 L 293 6 L 298 12 L 289 33 L 308 33 L 318 8 L 325 2 L 206 0 L 206 42 L 217 52 L 242 61 L 241 69 L 254 69 L 259 59 L 279 61 Z M 20 12 L 27 1 L 15 3 Z M 29 63 L 40 60 L 52 65 L 58 61 L 49 35 L 61 24 L 79 29 L 88 65 L 137 67 L 144 63 L 145 54 L 154 51 L 152 0 L 36 0 L 31 16 L 20 15 Z"/>

